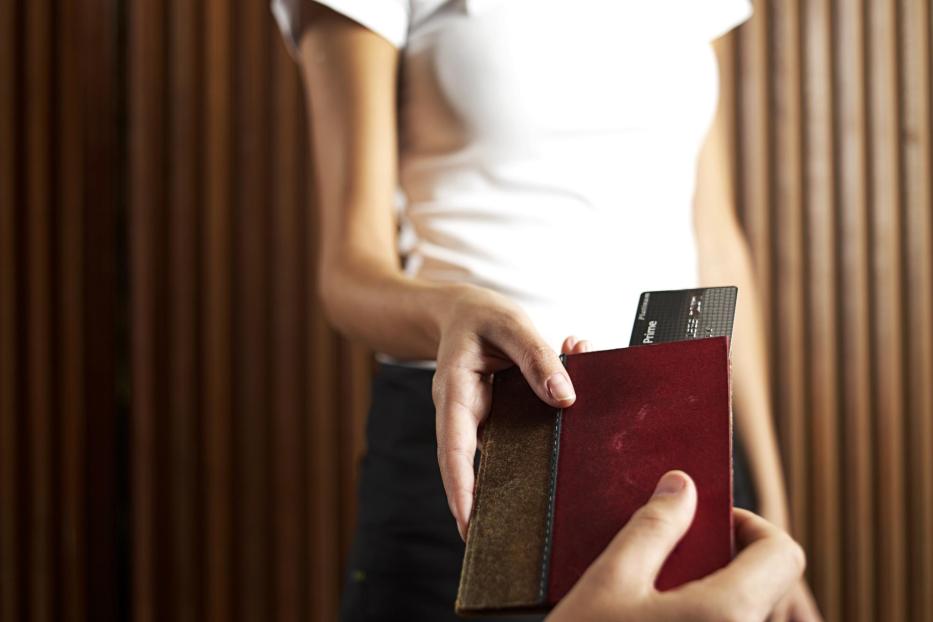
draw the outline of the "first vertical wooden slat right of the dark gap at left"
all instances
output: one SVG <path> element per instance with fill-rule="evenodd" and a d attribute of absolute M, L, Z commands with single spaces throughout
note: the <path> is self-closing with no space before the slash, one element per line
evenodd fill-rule
<path fill-rule="evenodd" d="M 137 1 L 129 17 L 129 244 L 131 263 L 133 615 L 160 618 L 157 590 L 160 542 L 157 512 L 158 429 L 163 412 L 158 364 L 159 244 L 156 231 L 165 205 L 164 188 L 164 7 Z"/>

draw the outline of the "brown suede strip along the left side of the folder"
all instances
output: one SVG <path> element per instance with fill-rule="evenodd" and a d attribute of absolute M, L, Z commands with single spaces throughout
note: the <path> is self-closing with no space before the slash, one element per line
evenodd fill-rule
<path fill-rule="evenodd" d="M 518 369 L 496 374 L 457 594 L 458 613 L 543 606 L 556 416 L 557 411 L 534 395 Z"/>

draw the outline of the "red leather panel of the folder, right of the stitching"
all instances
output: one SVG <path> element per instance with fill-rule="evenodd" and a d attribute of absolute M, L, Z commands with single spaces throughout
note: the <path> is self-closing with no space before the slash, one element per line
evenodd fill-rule
<path fill-rule="evenodd" d="M 548 602 L 556 604 L 666 471 L 696 483 L 697 511 L 658 589 L 733 556 L 729 344 L 725 337 L 572 355 L 564 410 Z"/>

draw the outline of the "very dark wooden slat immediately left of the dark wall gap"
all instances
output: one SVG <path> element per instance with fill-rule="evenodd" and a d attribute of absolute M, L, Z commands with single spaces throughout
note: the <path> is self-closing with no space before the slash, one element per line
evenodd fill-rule
<path fill-rule="evenodd" d="M 73 1 L 73 0 L 69 0 Z M 75 42 L 80 62 L 82 162 L 82 303 L 83 303 L 83 434 L 82 477 L 85 518 L 83 555 L 88 620 L 107 622 L 126 615 L 130 579 L 129 556 L 119 546 L 125 532 L 126 499 L 122 492 L 125 469 L 117 456 L 126 455 L 128 439 L 121 425 L 126 396 L 125 364 L 117 363 L 118 343 L 123 350 L 125 318 L 118 313 L 118 195 L 129 170 L 118 128 L 126 99 L 121 69 L 126 50 L 118 49 L 123 27 L 119 7 L 109 0 L 74 3 L 69 23 L 77 25 Z M 80 6 L 80 10 L 77 7 Z M 119 25 L 119 26 L 115 26 Z M 119 328 L 118 328 L 119 327 Z M 121 354 L 121 360 L 123 355 Z M 125 363 L 125 361 L 124 361 Z M 119 373 L 119 379 L 118 379 Z M 121 391 L 122 393 L 122 391 Z M 118 401 L 119 399 L 119 401 Z M 128 503 L 128 500 L 126 500 Z M 128 604 L 128 603 L 127 603 Z"/>

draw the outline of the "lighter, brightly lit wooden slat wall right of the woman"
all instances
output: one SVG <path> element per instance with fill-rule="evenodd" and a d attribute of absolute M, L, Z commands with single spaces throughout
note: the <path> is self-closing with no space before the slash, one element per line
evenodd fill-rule
<path fill-rule="evenodd" d="M 724 80 L 794 531 L 828 619 L 933 620 L 930 4 L 755 10 Z"/>

